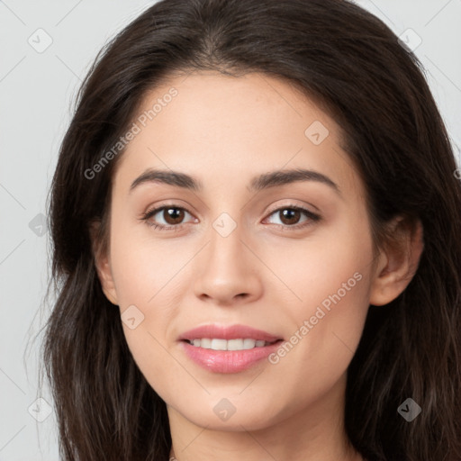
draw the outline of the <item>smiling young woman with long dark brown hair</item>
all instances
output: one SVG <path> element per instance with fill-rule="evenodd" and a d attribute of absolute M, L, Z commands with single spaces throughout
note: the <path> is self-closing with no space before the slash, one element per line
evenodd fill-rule
<path fill-rule="evenodd" d="M 63 459 L 461 458 L 461 189 L 419 66 L 339 0 L 115 37 L 51 188 Z"/>

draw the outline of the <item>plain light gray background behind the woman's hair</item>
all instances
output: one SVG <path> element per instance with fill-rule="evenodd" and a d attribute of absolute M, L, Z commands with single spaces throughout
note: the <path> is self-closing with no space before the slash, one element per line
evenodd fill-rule
<path fill-rule="evenodd" d="M 41 214 L 81 80 L 102 45 L 153 3 L 0 1 L 0 461 L 59 459 L 50 390 L 38 388 L 41 335 L 33 340 L 49 314 L 41 302 L 50 234 Z M 461 147 L 461 0 L 356 3 L 412 46 L 420 37 L 415 53 Z"/>

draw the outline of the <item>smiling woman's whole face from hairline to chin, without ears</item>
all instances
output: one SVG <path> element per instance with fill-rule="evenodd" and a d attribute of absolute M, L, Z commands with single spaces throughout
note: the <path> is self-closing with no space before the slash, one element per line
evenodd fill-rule
<path fill-rule="evenodd" d="M 134 123 L 113 177 L 104 292 L 168 411 L 230 430 L 340 411 L 373 251 L 339 126 L 281 80 L 211 72 L 156 87 Z M 149 170 L 162 176 L 137 181 Z M 220 330 L 235 325 L 270 338 Z"/>

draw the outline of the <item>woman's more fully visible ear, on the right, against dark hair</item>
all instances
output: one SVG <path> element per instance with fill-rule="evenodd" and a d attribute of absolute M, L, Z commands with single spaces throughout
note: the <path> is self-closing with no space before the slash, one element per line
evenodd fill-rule
<path fill-rule="evenodd" d="M 398 216 L 390 223 L 392 241 L 385 245 L 375 266 L 370 288 L 370 304 L 391 303 L 410 284 L 424 248 L 420 220 Z"/>

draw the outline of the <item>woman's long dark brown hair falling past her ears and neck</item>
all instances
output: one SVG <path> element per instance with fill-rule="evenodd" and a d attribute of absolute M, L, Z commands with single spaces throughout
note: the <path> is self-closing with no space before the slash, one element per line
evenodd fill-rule
<path fill-rule="evenodd" d="M 396 214 L 420 219 L 424 250 L 410 285 L 370 306 L 348 368 L 345 424 L 369 460 L 461 459 L 461 186 L 419 60 L 359 6 L 339 0 L 163 0 L 96 58 L 78 94 L 50 189 L 58 298 L 43 363 L 62 459 L 166 461 L 165 402 L 136 366 L 120 312 L 95 271 L 92 221 L 107 242 L 114 167 L 92 168 L 129 128 L 146 92 L 175 71 L 283 78 L 341 127 L 366 185 L 374 239 Z M 50 288 L 50 287 L 49 287 Z M 422 411 L 408 422 L 407 398 Z"/>

